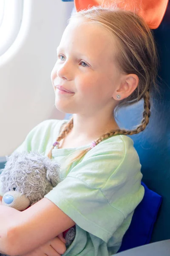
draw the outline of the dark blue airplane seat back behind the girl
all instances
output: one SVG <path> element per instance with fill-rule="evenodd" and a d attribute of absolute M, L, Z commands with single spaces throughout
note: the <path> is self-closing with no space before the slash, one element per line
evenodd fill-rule
<path fill-rule="evenodd" d="M 142 181 L 162 196 L 151 242 L 170 239 L 170 3 L 158 29 L 153 30 L 159 52 L 159 93 L 152 93 L 147 128 L 131 136 L 142 164 Z M 142 120 L 143 101 L 122 108 L 118 124 L 132 128 Z"/>

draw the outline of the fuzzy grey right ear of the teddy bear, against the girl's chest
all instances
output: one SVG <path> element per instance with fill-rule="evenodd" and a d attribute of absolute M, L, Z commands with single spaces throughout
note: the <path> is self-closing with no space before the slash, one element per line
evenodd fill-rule
<path fill-rule="evenodd" d="M 50 160 L 48 166 L 46 167 L 47 167 L 47 173 L 46 173 L 47 179 L 51 182 L 53 187 L 57 186 L 57 184 L 59 183 L 59 169 L 60 169 L 59 164 L 56 162 L 52 162 Z"/>

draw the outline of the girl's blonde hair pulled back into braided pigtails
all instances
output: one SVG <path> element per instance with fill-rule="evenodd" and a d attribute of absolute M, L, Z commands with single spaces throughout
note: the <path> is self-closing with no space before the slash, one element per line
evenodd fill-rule
<path fill-rule="evenodd" d="M 113 34 L 118 41 L 118 54 L 115 61 L 118 67 L 126 74 L 136 74 L 139 77 L 139 85 L 136 90 L 126 99 L 119 101 L 118 107 L 123 105 L 132 105 L 140 99 L 144 99 L 144 112 L 141 124 L 134 130 L 111 130 L 106 134 L 102 134 L 95 142 L 96 145 L 102 140 L 107 139 L 116 134 L 133 135 L 143 131 L 149 123 L 150 117 L 150 90 L 156 85 L 156 76 L 158 68 L 158 56 L 156 45 L 152 31 L 149 29 L 142 17 L 133 12 L 120 10 L 117 8 L 102 6 L 93 6 L 90 9 L 76 12 L 71 16 L 73 18 L 85 18 L 88 22 L 98 24 Z M 69 20 L 69 21 L 70 21 Z M 73 128 L 73 117 L 64 125 L 62 131 L 57 137 L 57 141 L 62 140 Z M 51 158 L 52 146 L 48 157 Z M 81 159 L 89 150 L 87 148 L 80 152 L 71 161 L 71 164 Z"/>

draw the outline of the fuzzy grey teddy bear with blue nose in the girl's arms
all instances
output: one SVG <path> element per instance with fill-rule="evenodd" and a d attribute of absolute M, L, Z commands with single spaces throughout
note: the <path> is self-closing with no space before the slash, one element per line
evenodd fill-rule
<path fill-rule="evenodd" d="M 55 161 L 38 152 L 14 152 L 7 157 L 7 162 L 0 175 L 3 205 L 23 211 L 37 203 L 60 178 L 60 166 Z M 73 242 L 76 227 L 66 233 L 66 247 Z M 0 253 L 0 256 L 4 254 Z"/>

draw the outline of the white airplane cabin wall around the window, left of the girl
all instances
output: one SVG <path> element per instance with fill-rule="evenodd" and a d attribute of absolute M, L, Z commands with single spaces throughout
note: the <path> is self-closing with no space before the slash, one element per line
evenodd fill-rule
<path fill-rule="evenodd" d="M 0 157 L 11 154 L 38 123 L 65 116 L 54 105 L 50 76 L 73 7 L 61 0 L 23 0 L 20 31 L 0 56 Z"/>

